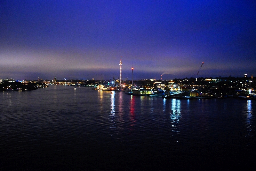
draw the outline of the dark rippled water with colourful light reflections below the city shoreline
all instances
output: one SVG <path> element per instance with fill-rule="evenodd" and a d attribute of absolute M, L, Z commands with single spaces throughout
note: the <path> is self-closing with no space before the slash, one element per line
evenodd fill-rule
<path fill-rule="evenodd" d="M 0 93 L 1 170 L 255 167 L 256 101 L 50 87 Z"/>

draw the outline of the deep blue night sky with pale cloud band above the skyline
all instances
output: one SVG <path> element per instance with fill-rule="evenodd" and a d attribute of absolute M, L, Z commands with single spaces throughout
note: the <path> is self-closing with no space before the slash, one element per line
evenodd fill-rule
<path fill-rule="evenodd" d="M 256 1 L 0 2 L 0 78 L 256 76 Z M 198 76 L 197 69 L 204 62 Z"/>

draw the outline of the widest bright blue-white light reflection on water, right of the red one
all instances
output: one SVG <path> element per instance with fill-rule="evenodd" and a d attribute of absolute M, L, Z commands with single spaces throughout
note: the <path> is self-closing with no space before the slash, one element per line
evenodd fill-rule
<path fill-rule="evenodd" d="M 180 117 L 181 117 L 180 100 L 172 99 L 172 113 L 170 115 L 170 121 L 172 122 L 173 132 L 180 132 L 178 128 Z"/>

